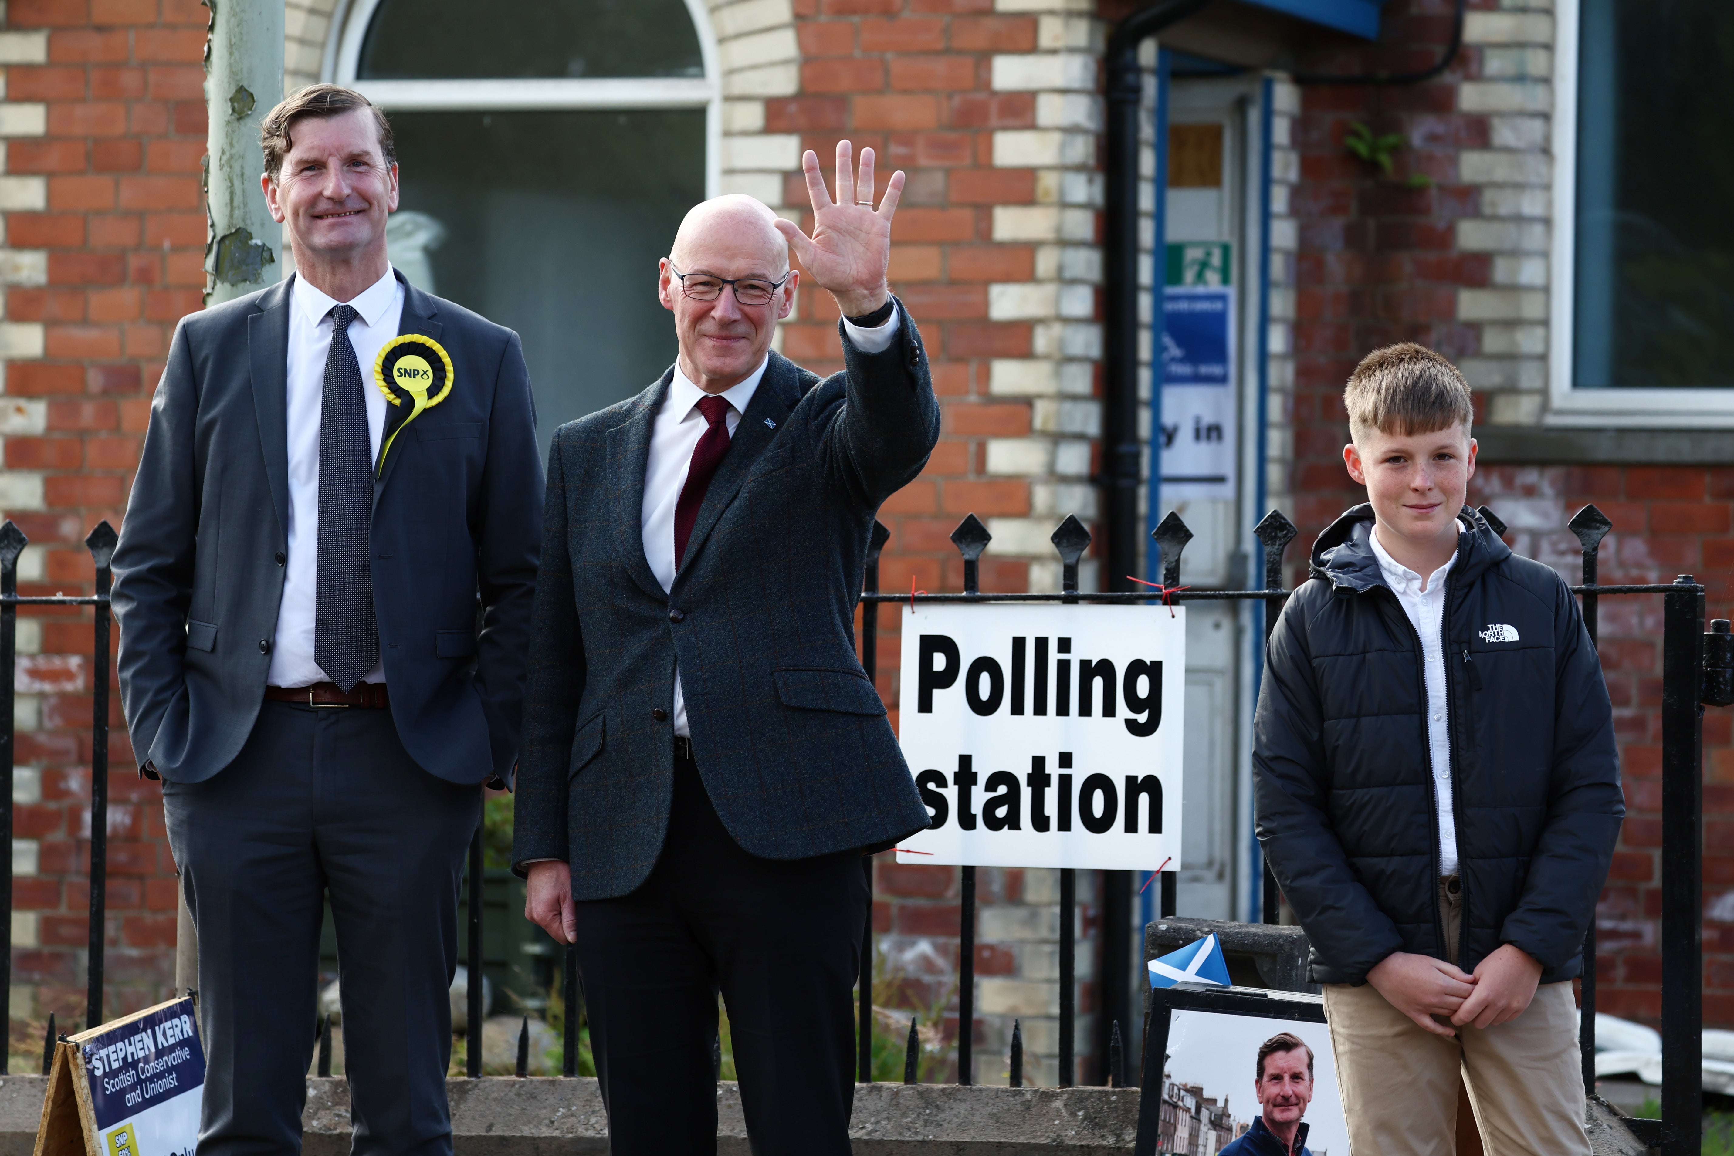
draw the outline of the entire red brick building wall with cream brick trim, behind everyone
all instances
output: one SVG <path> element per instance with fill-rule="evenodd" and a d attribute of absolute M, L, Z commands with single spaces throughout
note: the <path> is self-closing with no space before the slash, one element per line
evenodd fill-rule
<path fill-rule="evenodd" d="M 316 76 L 333 0 L 290 0 L 291 83 Z M 943 433 L 929 468 L 883 511 L 886 589 L 959 589 L 947 536 L 964 513 L 994 532 L 983 589 L 1054 589 L 1047 534 L 1096 518 L 1099 435 L 1098 61 L 1124 0 L 713 0 L 723 71 L 725 191 L 805 213 L 799 149 L 825 158 L 850 135 L 910 173 L 893 283 L 933 355 Z M 1392 0 L 1377 47 L 1313 54 L 1307 71 L 1417 68 L 1446 40 L 1450 0 Z M 1408 88 L 1276 87 L 1273 173 L 1273 501 L 1292 497 L 1302 544 L 1359 499 L 1339 463 L 1340 383 L 1365 350 L 1420 340 L 1463 364 L 1490 423 L 1536 419 L 1547 348 L 1547 123 L 1552 17 L 1528 0 L 1472 0 L 1450 73 Z M 1535 10 L 1531 10 L 1535 9 Z M 31 536 L 29 591 L 88 589 L 80 541 L 118 522 L 137 438 L 173 322 L 199 307 L 205 144 L 199 68 L 208 10 L 192 0 L 10 0 L 0 29 L 0 510 Z M 1349 45 L 1349 42 L 1335 42 Z M 1401 132 L 1396 180 L 1347 154 L 1353 123 Z M 1429 184 L 1408 184 L 1425 175 Z M 1294 246 L 1294 248 L 1290 248 Z M 1294 286 L 1292 289 L 1287 286 Z M 1290 322 L 1292 317 L 1292 322 Z M 803 293 L 782 348 L 839 364 L 824 293 Z M 1292 388 L 1292 392 L 1290 392 Z M 1574 568 L 1559 527 L 1581 501 L 1618 525 L 1607 556 L 1626 577 L 1734 563 L 1734 471 L 1488 470 L 1514 541 Z M 1287 503 L 1285 503 L 1287 504 Z M 1299 556 L 1299 549 L 1295 551 Z M 1614 572 L 1613 562 L 1607 574 Z M 1727 575 L 1711 612 L 1727 612 Z M 1094 588 L 1094 562 L 1084 586 Z M 1722 600 L 1722 601 L 1718 601 Z M 1718 610 L 1720 607 L 1720 610 Z M 1653 622 L 1607 607 L 1606 664 L 1621 711 L 1633 820 L 1602 908 L 1607 1007 L 1651 1016 L 1654 995 Z M 1620 615 L 1635 615 L 1623 619 Z M 881 615 L 881 693 L 896 705 L 898 617 Z M 19 629 L 19 882 L 14 1017 L 81 1010 L 88 799 L 88 615 Z M 895 714 L 893 714 L 895 718 Z M 139 783 L 114 714 L 109 1005 L 166 990 L 173 877 L 160 794 Z M 1725 721 L 1706 723 L 1715 834 L 1734 776 Z M 1734 780 L 1731 780 L 1734 782 Z M 1094 880 L 1080 879 L 1080 1057 L 1091 1052 Z M 1056 1047 L 1051 872 L 981 872 L 976 1078 L 1002 1078 L 1013 1017 L 1032 1075 Z M 1734 922 L 1734 863 L 1706 865 L 1706 948 Z M 955 976 L 957 873 L 877 868 L 876 927 L 916 1003 Z M 1734 932 L 1731 932 L 1734 934 Z M 1734 950 L 1734 948 L 1731 948 Z M 1706 1017 L 1734 1023 L 1734 972 L 1713 955 Z M 955 1005 L 954 1005 L 955 1007 Z M 955 1029 L 955 1024 L 950 1024 Z M 1080 1073 L 1089 1076 L 1089 1071 Z"/>

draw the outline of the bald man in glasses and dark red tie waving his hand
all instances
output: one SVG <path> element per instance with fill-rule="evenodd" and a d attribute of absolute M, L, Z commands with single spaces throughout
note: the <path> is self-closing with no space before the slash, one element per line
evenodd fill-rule
<path fill-rule="evenodd" d="M 855 659 L 874 513 L 940 432 L 890 295 L 872 151 L 813 236 L 707 201 L 662 260 L 680 360 L 562 426 L 548 459 L 513 861 L 576 943 L 616 1156 L 716 1151 L 728 1007 L 753 1151 L 848 1153 L 867 920 L 862 854 L 928 825 Z M 770 352 L 799 274 L 838 300 L 846 369 Z"/>

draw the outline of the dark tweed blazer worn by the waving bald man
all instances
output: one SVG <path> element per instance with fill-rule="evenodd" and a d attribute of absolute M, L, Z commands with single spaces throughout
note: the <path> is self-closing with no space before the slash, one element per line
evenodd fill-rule
<path fill-rule="evenodd" d="M 770 355 L 668 593 L 645 560 L 640 510 L 673 367 L 555 432 L 520 873 L 529 860 L 565 860 L 577 899 L 628 894 L 650 873 L 675 783 L 676 660 L 699 775 L 751 854 L 881 849 L 928 825 L 855 657 L 855 605 L 874 515 L 921 473 L 940 411 L 907 312 L 888 350 L 864 354 L 846 334 L 843 350 L 844 371 L 824 381 Z"/>

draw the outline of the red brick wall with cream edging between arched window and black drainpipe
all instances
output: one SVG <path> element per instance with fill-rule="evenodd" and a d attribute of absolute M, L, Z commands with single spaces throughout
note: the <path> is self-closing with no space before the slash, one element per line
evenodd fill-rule
<path fill-rule="evenodd" d="M 921 478 L 881 510 L 884 589 L 962 588 L 948 536 L 975 513 L 994 534 L 981 589 L 1058 589 L 1047 536 L 1096 516 L 1101 255 L 1096 95 L 1099 24 L 1068 0 L 798 0 L 799 95 L 765 102 L 765 132 L 794 133 L 829 173 L 839 137 L 877 151 L 881 187 L 909 172 L 891 253 L 895 291 L 926 338 L 943 406 Z M 806 205 L 798 173 L 786 210 Z M 806 213 L 801 213 L 810 225 Z M 836 308 L 805 293 L 782 352 L 841 369 Z M 1094 586 L 1085 563 L 1084 586 Z M 879 690 L 896 711 L 898 617 L 881 615 Z M 959 879 L 881 856 L 874 925 L 912 1005 L 954 991 Z M 1084 872 L 1082 875 L 1089 875 Z M 1079 894 L 1079 1055 L 1089 1071 L 1092 880 Z M 1004 1083 L 1021 1019 L 1032 1081 L 1056 1083 L 1058 875 L 980 872 L 976 1080 Z M 955 995 L 947 1035 L 955 1033 Z"/>

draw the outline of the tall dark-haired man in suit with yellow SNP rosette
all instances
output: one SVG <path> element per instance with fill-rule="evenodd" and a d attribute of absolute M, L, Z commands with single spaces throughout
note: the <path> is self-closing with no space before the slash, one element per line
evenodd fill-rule
<path fill-rule="evenodd" d="M 262 139 L 297 274 L 180 322 L 114 551 L 199 932 L 199 1156 L 300 1149 L 328 894 L 354 1151 L 447 1156 L 458 884 L 517 756 L 541 542 L 529 374 L 394 274 L 366 97 L 303 88 Z"/>

